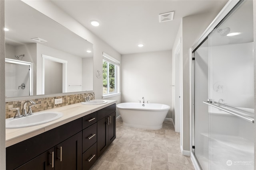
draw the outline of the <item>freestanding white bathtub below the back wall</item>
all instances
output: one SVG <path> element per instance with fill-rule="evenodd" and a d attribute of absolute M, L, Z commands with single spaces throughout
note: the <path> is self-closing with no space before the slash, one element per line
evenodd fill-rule
<path fill-rule="evenodd" d="M 128 127 L 161 129 L 170 106 L 165 104 L 120 103 L 116 107 Z"/>

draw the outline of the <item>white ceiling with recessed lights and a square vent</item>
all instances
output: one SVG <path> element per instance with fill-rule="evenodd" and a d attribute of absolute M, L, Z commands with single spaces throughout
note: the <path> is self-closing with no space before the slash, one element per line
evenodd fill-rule
<path fill-rule="evenodd" d="M 171 50 L 183 17 L 219 12 L 227 0 L 52 0 L 120 54 Z M 159 23 L 158 14 L 174 11 Z M 90 20 L 100 21 L 93 27 Z M 137 45 L 144 44 L 140 48 Z"/>

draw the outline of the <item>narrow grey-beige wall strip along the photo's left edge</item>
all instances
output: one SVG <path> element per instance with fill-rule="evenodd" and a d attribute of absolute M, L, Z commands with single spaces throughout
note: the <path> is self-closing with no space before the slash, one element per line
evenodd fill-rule
<path fill-rule="evenodd" d="M 4 1 L 0 0 L 0 113 L 5 112 L 5 40 Z M 5 162 L 5 114 L 0 114 L 0 169 L 6 169 Z"/>

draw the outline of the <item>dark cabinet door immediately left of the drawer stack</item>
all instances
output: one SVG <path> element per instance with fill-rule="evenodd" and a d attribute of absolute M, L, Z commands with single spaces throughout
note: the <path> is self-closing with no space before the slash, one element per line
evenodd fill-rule
<path fill-rule="evenodd" d="M 82 170 L 82 132 L 55 147 L 55 170 Z"/>

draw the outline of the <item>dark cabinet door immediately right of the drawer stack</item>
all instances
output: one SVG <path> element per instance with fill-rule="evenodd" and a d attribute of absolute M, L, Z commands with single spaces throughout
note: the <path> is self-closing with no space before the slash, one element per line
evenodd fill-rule
<path fill-rule="evenodd" d="M 108 147 L 108 117 L 100 119 L 97 122 L 97 158 Z"/>

